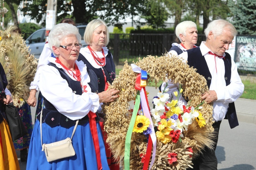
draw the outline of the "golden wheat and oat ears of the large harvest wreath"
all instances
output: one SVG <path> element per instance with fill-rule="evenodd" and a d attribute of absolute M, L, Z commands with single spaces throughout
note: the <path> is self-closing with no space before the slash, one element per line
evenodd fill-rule
<path fill-rule="evenodd" d="M 191 160 L 204 147 L 212 148 L 213 145 L 211 140 L 214 136 L 212 128 L 213 107 L 211 104 L 202 103 L 201 100 L 201 94 L 208 91 L 206 80 L 177 56 L 147 56 L 142 60 L 139 59 L 135 65 L 145 70 L 149 75 L 146 80 L 147 83 L 155 82 L 157 84 L 159 80 L 167 81 L 171 79 L 173 83 L 182 84 L 183 90 L 180 92 L 182 92 L 185 99 L 190 101 L 190 108 L 191 106 L 196 108 L 202 104 L 200 115 L 205 121 L 205 126 L 199 126 L 197 121 L 193 121 L 183 130 L 182 140 L 176 140 L 175 142 L 163 142 L 162 139 L 157 137 L 155 153 L 150 150 L 150 161 L 153 153 L 154 163 L 146 167 L 144 165 L 144 154 L 148 149 L 148 138 L 143 133 L 133 132 L 129 141 L 129 164 L 128 168 L 125 169 L 185 170 L 191 167 Z M 106 142 L 109 143 L 114 158 L 120 160 L 120 166 L 124 167 L 126 135 L 132 117 L 128 109 L 129 102 L 136 99 L 138 92 L 134 88 L 137 74 L 126 62 L 123 70 L 119 72 L 118 78 L 109 86 L 109 88 L 120 90 L 119 98 L 114 102 L 103 105 L 103 111 L 106 114 L 104 130 L 108 133 Z"/>

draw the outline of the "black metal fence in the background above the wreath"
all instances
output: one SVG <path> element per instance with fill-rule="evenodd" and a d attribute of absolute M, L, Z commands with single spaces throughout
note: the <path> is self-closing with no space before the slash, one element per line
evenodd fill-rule
<path fill-rule="evenodd" d="M 205 35 L 198 34 L 198 46 L 205 41 Z M 160 56 L 177 41 L 175 34 L 110 34 L 108 49 L 113 54 L 115 65 L 137 61 L 147 55 Z"/>

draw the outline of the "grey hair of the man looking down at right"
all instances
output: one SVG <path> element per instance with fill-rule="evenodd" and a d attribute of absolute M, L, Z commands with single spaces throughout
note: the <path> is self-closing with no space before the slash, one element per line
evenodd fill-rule
<path fill-rule="evenodd" d="M 207 28 L 204 30 L 204 34 L 205 37 L 208 38 L 209 33 L 212 32 L 215 38 L 216 36 L 221 35 L 225 29 L 230 31 L 233 37 L 237 35 L 236 28 L 224 19 L 216 19 L 208 23 Z"/>

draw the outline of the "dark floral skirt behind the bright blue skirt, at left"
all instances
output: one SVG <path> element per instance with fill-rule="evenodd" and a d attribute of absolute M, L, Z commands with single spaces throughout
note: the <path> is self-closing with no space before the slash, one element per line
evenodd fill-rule
<path fill-rule="evenodd" d="M 32 125 L 32 118 L 31 118 L 31 110 L 30 106 L 25 103 L 23 106 L 18 108 L 19 115 L 22 118 L 23 124 L 25 125 L 28 134 L 15 140 L 13 142 L 14 148 L 16 150 L 22 150 L 29 147 L 32 131 L 33 131 L 33 125 Z"/>

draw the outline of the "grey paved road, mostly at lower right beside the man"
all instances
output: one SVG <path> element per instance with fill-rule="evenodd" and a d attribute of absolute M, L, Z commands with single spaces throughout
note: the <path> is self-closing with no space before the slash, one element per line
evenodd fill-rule
<path fill-rule="evenodd" d="M 150 93 L 149 103 L 152 107 L 153 96 L 158 90 L 146 87 Z M 236 102 L 239 126 L 230 129 L 228 121 L 223 120 L 216 148 L 219 170 L 254 170 L 256 169 L 256 100 L 239 98 Z M 32 118 L 35 108 L 31 107 Z M 33 120 L 34 123 L 34 120 Z M 17 152 L 19 157 L 19 153 Z M 20 162 L 20 169 L 26 169 L 26 163 Z"/>

